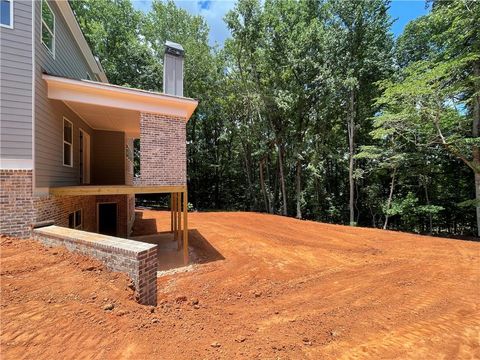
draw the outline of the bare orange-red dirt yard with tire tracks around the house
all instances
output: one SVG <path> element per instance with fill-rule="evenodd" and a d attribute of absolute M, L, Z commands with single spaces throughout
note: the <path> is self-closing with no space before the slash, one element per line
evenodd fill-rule
<path fill-rule="evenodd" d="M 158 279 L 156 308 L 93 260 L 3 238 L 1 358 L 480 358 L 480 243 L 189 219 L 197 265 Z M 144 211 L 135 232 L 168 227 L 168 213 Z"/>

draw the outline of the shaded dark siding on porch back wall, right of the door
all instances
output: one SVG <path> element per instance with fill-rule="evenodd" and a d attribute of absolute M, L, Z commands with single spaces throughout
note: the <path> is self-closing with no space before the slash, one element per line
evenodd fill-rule
<path fill-rule="evenodd" d="M 125 133 L 94 131 L 92 149 L 93 183 L 97 185 L 125 184 Z"/>

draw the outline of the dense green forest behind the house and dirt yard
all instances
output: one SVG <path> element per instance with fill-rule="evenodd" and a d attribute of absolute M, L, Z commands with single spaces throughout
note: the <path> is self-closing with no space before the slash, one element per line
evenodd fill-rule
<path fill-rule="evenodd" d="M 185 48 L 193 209 L 480 236 L 480 2 L 395 39 L 388 0 L 238 0 L 223 46 L 172 1 L 70 3 L 113 84 L 162 92 Z"/>

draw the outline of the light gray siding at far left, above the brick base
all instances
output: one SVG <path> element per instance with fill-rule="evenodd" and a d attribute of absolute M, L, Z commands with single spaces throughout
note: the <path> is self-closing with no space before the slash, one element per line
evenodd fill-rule
<path fill-rule="evenodd" d="M 13 29 L 0 27 L 0 157 L 32 158 L 32 3 L 13 2 Z"/>

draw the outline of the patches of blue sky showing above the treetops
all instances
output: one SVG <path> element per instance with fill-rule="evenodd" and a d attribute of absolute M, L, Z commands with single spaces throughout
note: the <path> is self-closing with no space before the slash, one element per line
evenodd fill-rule
<path fill-rule="evenodd" d="M 358 1 L 358 0 L 352 0 Z M 151 0 L 133 0 L 137 9 L 148 11 L 151 6 Z M 223 21 L 225 14 L 234 7 L 233 0 L 175 0 L 177 6 L 187 10 L 194 15 L 202 15 L 210 27 L 210 44 L 217 43 L 222 46 L 230 33 Z M 425 15 L 428 12 L 425 9 L 423 0 L 394 0 L 390 6 L 390 16 L 397 19 L 392 31 L 395 37 L 399 36 L 405 25 L 409 21 Z"/>

